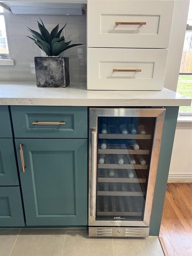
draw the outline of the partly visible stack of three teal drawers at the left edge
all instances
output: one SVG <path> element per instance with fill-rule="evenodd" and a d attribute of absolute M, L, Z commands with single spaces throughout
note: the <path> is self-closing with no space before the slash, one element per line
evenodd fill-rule
<path fill-rule="evenodd" d="M 0 227 L 25 226 L 8 106 L 0 106 Z"/>

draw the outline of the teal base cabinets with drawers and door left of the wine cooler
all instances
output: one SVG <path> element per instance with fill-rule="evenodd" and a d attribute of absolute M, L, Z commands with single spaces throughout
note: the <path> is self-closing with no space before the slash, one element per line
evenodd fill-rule
<path fill-rule="evenodd" d="M 24 215 L 27 226 L 87 225 L 87 118 L 87 107 L 0 106 L 0 227 Z"/>

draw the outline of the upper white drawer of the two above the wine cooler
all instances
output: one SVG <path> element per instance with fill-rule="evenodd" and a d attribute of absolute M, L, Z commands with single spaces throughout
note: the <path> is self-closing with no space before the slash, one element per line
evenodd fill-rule
<path fill-rule="evenodd" d="M 174 4 L 174 0 L 88 0 L 87 46 L 168 48 Z"/>

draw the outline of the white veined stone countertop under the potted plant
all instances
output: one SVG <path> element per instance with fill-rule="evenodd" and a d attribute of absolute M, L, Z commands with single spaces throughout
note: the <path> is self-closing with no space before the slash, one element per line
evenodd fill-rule
<path fill-rule="evenodd" d="M 95 91 L 86 83 L 66 88 L 38 88 L 36 82 L 1 82 L 0 105 L 161 107 L 190 106 L 191 99 L 169 89 L 163 91 Z"/>

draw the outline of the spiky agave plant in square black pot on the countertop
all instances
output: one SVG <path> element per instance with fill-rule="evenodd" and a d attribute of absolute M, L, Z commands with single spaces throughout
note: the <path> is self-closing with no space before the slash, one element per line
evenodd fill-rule
<path fill-rule="evenodd" d="M 46 57 L 34 57 L 37 87 L 67 87 L 69 85 L 69 58 L 58 55 L 71 47 L 82 44 L 70 45 L 71 41 L 65 42 L 64 36 L 60 37 L 64 27 L 58 31 L 59 24 L 50 34 L 43 22 L 42 25 L 38 22 L 38 27 L 40 33 L 28 28 L 33 38 L 28 37 L 46 53 Z"/>

